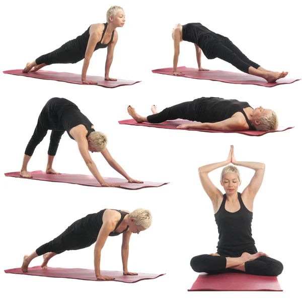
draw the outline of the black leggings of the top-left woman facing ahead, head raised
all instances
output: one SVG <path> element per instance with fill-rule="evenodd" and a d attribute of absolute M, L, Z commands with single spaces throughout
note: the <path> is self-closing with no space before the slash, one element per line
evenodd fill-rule
<path fill-rule="evenodd" d="M 65 44 L 63 44 L 60 48 L 51 51 L 49 53 L 43 54 L 36 59 L 36 64 L 67 64 L 67 63 L 77 63 L 84 59 L 85 53 L 82 54 L 80 51 L 68 51 Z"/>

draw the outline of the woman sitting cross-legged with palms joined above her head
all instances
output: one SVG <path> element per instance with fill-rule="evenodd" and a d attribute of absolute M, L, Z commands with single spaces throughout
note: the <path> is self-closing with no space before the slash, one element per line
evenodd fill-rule
<path fill-rule="evenodd" d="M 239 170 L 227 166 L 222 170 L 220 183 L 223 195 L 209 179 L 209 172 L 232 163 L 255 170 L 250 184 L 239 193 L 241 184 Z M 191 267 L 196 272 L 222 273 L 245 272 L 252 275 L 277 276 L 281 274 L 281 262 L 258 252 L 252 238 L 251 223 L 253 219 L 254 198 L 261 187 L 265 165 L 254 162 L 238 162 L 234 147 L 231 146 L 226 161 L 199 168 L 199 177 L 206 194 L 212 201 L 215 221 L 218 226 L 219 241 L 217 253 L 199 255 L 191 260 Z"/>

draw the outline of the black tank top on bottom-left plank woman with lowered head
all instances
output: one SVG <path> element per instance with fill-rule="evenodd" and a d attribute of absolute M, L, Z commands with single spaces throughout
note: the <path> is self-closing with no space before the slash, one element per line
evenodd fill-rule
<path fill-rule="evenodd" d="M 94 214 L 88 214 L 86 217 L 80 219 L 80 224 L 83 225 L 85 231 L 93 238 L 97 238 L 99 235 L 99 232 L 102 228 L 103 225 L 103 215 L 106 209 L 99 211 L 98 213 Z M 124 232 L 126 232 L 129 228 L 129 225 L 127 228 L 121 232 L 121 233 L 116 233 L 115 230 L 119 227 L 121 222 L 124 220 L 126 215 L 129 215 L 127 212 L 123 212 L 121 210 L 115 210 L 118 211 L 121 214 L 121 219 L 117 222 L 115 229 L 113 232 L 109 234 L 109 236 L 118 236 Z"/>

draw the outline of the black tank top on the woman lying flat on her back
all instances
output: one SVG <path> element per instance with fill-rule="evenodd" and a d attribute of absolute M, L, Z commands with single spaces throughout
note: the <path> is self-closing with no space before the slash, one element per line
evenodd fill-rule
<path fill-rule="evenodd" d="M 194 120 L 198 122 L 220 122 L 232 117 L 236 112 L 241 112 L 244 115 L 250 130 L 255 129 L 243 110 L 244 108 L 251 107 L 247 102 L 210 97 L 196 99 L 192 102 L 192 106 L 192 110 L 195 112 Z"/>

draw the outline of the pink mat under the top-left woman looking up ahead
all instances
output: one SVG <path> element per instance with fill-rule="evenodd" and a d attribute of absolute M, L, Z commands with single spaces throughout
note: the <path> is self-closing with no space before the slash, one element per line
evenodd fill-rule
<path fill-rule="evenodd" d="M 22 69 L 15 69 L 15 70 L 6 70 L 3 71 L 3 73 L 23 75 L 23 77 L 30 77 L 30 78 L 36 78 L 42 80 L 54 80 L 54 81 L 72 83 L 72 84 L 86 85 L 82 83 L 81 74 L 75 74 L 69 72 L 38 70 L 36 72 L 23 73 Z M 105 81 L 105 78 L 97 77 L 96 75 L 87 75 L 86 79 L 97 82 L 98 83 L 97 86 L 103 86 L 107 88 L 115 88 L 124 85 L 133 85 L 135 83 L 140 82 L 140 81 L 119 80 L 119 79 L 117 81 Z"/>

